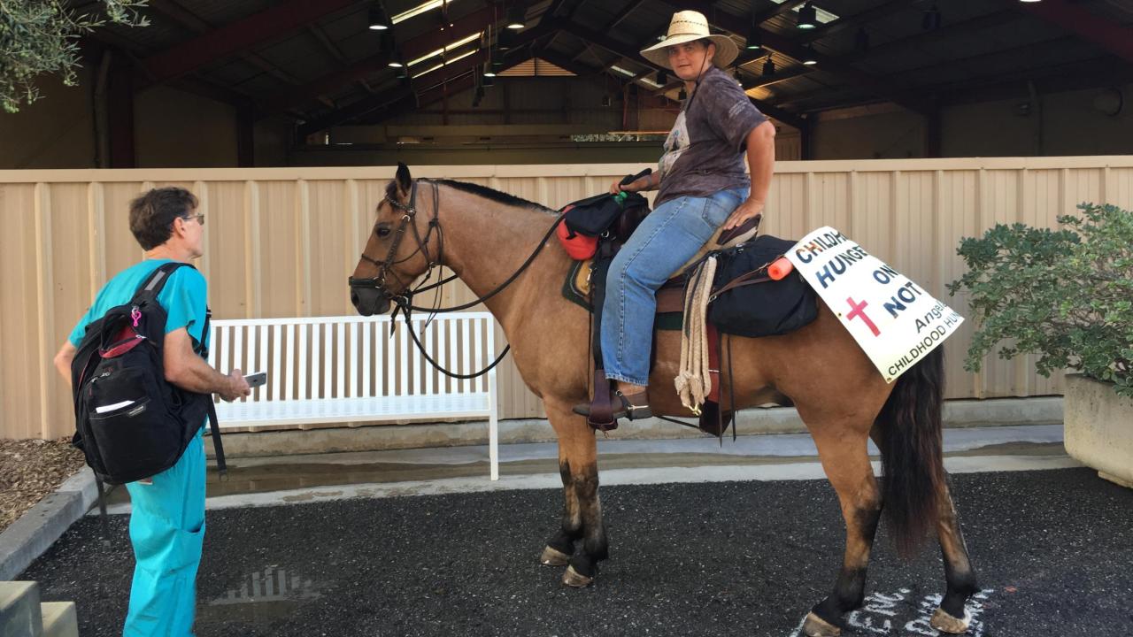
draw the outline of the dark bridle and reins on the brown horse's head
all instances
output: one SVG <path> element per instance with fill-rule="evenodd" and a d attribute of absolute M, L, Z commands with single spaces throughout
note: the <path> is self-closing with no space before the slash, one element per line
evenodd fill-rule
<path fill-rule="evenodd" d="M 382 298 L 385 298 L 391 303 L 393 303 L 394 305 L 397 305 L 397 307 L 393 309 L 393 318 L 397 320 L 398 312 L 401 312 L 402 316 L 406 320 L 406 329 L 409 330 L 409 336 L 412 337 L 414 343 L 417 345 L 417 349 L 420 350 L 421 356 L 425 357 L 425 360 L 427 360 L 431 365 L 433 365 L 433 367 L 435 367 L 438 372 L 452 379 L 462 379 L 462 380 L 476 379 L 483 376 L 484 374 L 487 374 L 488 372 L 492 371 L 493 367 L 499 365 L 500 362 L 503 360 L 504 356 L 508 355 L 508 351 L 511 349 L 511 346 L 509 345 L 504 347 L 503 351 L 500 353 L 500 356 L 496 357 L 496 359 L 484 370 L 480 370 L 475 374 L 455 374 L 438 365 L 435 360 L 433 360 L 429 357 L 428 354 L 426 354 L 425 347 L 421 345 L 420 340 L 418 340 L 417 333 L 414 332 L 412 323 L 409 320 L 409 314 L 411 312 L 427 312 L 429 314 L 429 321 L 432 321 L 433 316 L 435 316 L 436 314 L 468 309 L 500 294 L 501 291 L 504 290 L 504 288 L 514 282 L 516 279 L 518 279 L 519 275 L 522 274 L 528 269 L 528 266 L 531 265 L 531 263 L 535 261 L 535 257 L 538 256 L 539 253 L 543 250 L 543 247 L 547 245 L 547 240 L 551 239 L 551 236 L 554 233 L 555 228 L 557 228 L 559 224 L 562 223 L 563 215 L 562 214 L 559 215 L 559 219 L 556 219 L 555 222 L 551 226 L 551 229 L 547 230 L 547 233 L 543 237 L 543 240 L 540 240 L 539 245 L 535 247 L 535 252 L 533 252 L 531 255 L 527 257 L 527 261 L 525 261 L 523 264 L 519 266 L 519 270 L 517 270 L 511 277 L 509 277 L 503 283 L 500 283 L 500 286 L 497 286 L 491 292 L 469 303 L 465 303 L 453 307 L 442 308 L 442 307 L 436 307 L 435 305 L 433 307 L 418 307 L 412 303 L 414 296 L 424 291 L 440 288 L 441 286 L 455 280 L 457 275 L 453 274 L 435 283 L 431 283 L 428 286 L 425 284 L 433 277 L 433 270 L 435 267 L 444 265 L 444 230 L 441 228 L 441 220 L 440 220 L 441 190 L 440 187 L 436 185 L 436 182 L 428 181 L 428 185 L 433 187 L 433 216 L 428 220 L 428 230 L 426 230 L 425 236 L 421 237 L 420 231 L 417 229 L 417 223 L 416 223 L 417 184 L 418 181 L 414 180 L 412 186 L 410 188 L 409 205 L 406 205 L 394 199 L 390 195 L 385 196 L 385 201 L 389 202 L 394 210 L 401 211 L 402 215 L 401 215 L 401 223 L 398 226 L 398 229 L 395 231 L 397 233 L 393 237 L 393 241 L 390 243 L 390 249 L 389 252 L 386 252 L 384 261 L 377 261 L 367 255 L 365 252 L 361 253 L 363 261 L 366 261 L 377 266 L 377 274 L 374 277 L 367 277 L 363 279 L 350 277 L 349 279 L 347 279 L 347 281 L 349 282 L 351 290 L 353 289 L 377 290 L 377 292 L 382 295 Z M 397 258 L 398 248 L 401 246 L 401 241 L 402 239 L 404 239 L 408 228 L 412 228 L 412 235 L 414 239 L 417 241 L 417 248 L 412 253 L 410 253 L 409 256 L 398 260 Z M 377 231 L 378 227 L 377 224 L 375 224 L 374 233 L 377 233 Z M 429 253 L 428 249 L 429 239 L 432 239 L 434 231 L 436 232 L 436 258 L 433 257 L 433 255 Z M 423 254 L 425 256 L 425 266 L 426 266 L 425 278 L 421 280 L 420 286 L 418 286 L 415 289 L 409 289 L 409 284 L 406 283 L 404 280 L 398 275 L 393 266 L 399 263 L 404 263 L 418 254 Z M 401 287 L 404 288 L 404 290 L 401 294 L 393 294 L 390 291 L 386 280 L 387 277 L 391 274 L 397 280 L 397 283 L 399 283 Z M 435 296 L 434 299 L 435 303 L 440 303 L 440 295 Z M 426 322 L 426 325 L 427 324 L 428 322 Z"/>

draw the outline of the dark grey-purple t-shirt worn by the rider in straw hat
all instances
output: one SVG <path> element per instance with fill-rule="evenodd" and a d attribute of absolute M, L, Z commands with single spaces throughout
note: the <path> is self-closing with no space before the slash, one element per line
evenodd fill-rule
<path fill-rule="evenodd" d="M 707 197 L 730 188 L 748 188 L 744 142 L 767 121 L 724 71 L 705 71 L 700 86 L 684 102 L 657 162 L 661 190 L 654 206 L 676 197 Z"/>

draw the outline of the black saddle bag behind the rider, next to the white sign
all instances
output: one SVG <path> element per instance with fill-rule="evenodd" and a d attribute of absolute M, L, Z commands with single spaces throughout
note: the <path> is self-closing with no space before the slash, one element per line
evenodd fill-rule
<path fill-rule="evenodd" d="M 759 272 L 794 244 L 760 236 L 717 253 L 713 290 L 747 280 L 713 297 L 708 321 L 721 332 L 749 338 L 786 334 L 813 321 L 818 316 L 817 295 L 796 271 L 780 281 L 766 280 Z"/>

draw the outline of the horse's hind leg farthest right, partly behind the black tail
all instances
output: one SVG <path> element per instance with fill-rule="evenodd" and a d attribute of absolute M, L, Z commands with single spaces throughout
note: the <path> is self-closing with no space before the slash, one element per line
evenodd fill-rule
<path fill-rule="evenodd" d="M 977 591 L 976 570 L 968 559 L 968 546 L 964 534 L 960 530 L 956 508 L 946 484 L 940 485 L 938 494 L 940 517 L 937 520 L 937 533 L 940 537 L 940 553 L 944 555 L 944 576 L 948 589 L 940 602 L 940 608 L 932 613 L 930 623 L 942 632 L 963 634 L 968 631 L 971 615 L 964 608 L 968 597 Z"/>

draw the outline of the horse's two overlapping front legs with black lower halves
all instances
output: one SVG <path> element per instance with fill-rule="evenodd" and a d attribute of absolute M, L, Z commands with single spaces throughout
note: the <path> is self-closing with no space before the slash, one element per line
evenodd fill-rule
<path fill-rule="evenodd" d="M 571 411 L 565 402 L 546 401 L 547 418 L 559 436 L 559 474 L 563 481 L 563 520 L 547 541 L 540 561 L 570 564 L 563 584 L 586 586 L 597 575 L 597 562 L 608 555 L 606 528 L 598 500 L 598 448 L 586 417 Z M 574 541 L 582 551 L 574 554 Z"/>

